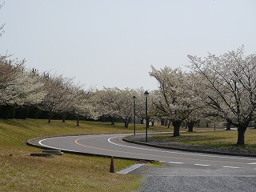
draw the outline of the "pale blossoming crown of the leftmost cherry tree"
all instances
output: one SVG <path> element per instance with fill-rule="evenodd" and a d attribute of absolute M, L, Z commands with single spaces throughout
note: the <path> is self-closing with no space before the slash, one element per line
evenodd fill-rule
<path fill-rule="evenodd" d="M 24 60 L 0 58 L 0 104 L 30 106 L 44 98 L 42 82 L 25 69 Z"/>

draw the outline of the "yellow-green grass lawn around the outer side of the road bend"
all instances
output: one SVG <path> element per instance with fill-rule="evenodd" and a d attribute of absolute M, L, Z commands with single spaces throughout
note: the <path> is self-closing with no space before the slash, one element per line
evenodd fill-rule
<path fill-rule="evenodd" d="M 110 159 L 74 154 L 54 158 L 31 157 L 42 150 L 26 146 L 30 138 L 65 134 L 133 133 L 134 126 L 122 123 L 80 122 L 39 119 L 0 119 L 0 191 L 132 191 L 140 186 L 140 176 L 110 174 Z M 145 131 L 145 125 L 136 125 Z M 164 126 L 150 131 L 166 131 Z M 13 154 L 13 156 L 10 156 Z M 133 165 L 134 161 L 114 159 L 115 170 Z"/>

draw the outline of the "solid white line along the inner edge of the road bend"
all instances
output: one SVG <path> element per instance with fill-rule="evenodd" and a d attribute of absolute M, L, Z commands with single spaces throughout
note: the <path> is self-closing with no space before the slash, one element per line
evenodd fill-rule
<path fill-rule="evenodd" d="M 113 137 L 113 138 L 122 138 L 123 136 L 118 136 L 118 137 Z M 199 156 L 199 157 L 210 157 L 210 158 L 227 158 L 227 159 L 238 159 L 238 160 L 249 160 L 249 161 L 255 161 L 255 159 L 252 158 L 237 158 L 237 157 L 228 157 L 228 156 L 217 156 L 217 155 L 210 155 L 210 154 L 192 154 L 192 153 L 183 153 L 183 152 L 176 152 L 176 151 L 170 151 L 170 150 L 153 150 L 153 149 L 146 149 L 142 147 L 136 147 L 136 146 L 124 146 L 120 145 L 114 142 L 111 142 L 110 140 L 113 138 L 108 138 L 108 142 L 115 146 L 122 146 L 122 147 L 127 147 L 127 148 L 133 148 L 137 150 L 150 150 L 150 151 L 157 151 L 157 152 L 164 152 L 168 154 L 186 154 L 186 155 L 193 155 L 193 156 Z"/>

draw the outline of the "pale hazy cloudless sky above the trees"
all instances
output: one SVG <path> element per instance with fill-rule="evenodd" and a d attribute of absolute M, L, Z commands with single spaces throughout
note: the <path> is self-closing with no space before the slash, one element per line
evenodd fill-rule
<path fill-rule="evenodd" d="M 150 66 L 185 70 L 187 54 L 256 52 L 255 0 L 5 0 L 2 23 L 0 54 L 98 89 L 157 89 Z"/>

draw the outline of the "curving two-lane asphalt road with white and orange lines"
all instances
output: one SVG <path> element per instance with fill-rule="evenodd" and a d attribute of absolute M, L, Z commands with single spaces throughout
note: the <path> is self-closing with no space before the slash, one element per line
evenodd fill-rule
<path fill-rule="evenodd" d="M 250 173 L 250 175 L 256 174 L 256 158 L 200 154 L 140 146 L 134 143 L 123 142 L 122 138 L 126 135 L 129 134 L 95 134 L 43 138 L 38 139 L 36 145 L 82 154 L 154 160 L 176 165 L 214 166 L 243 170 L 246 173 Z"/>

